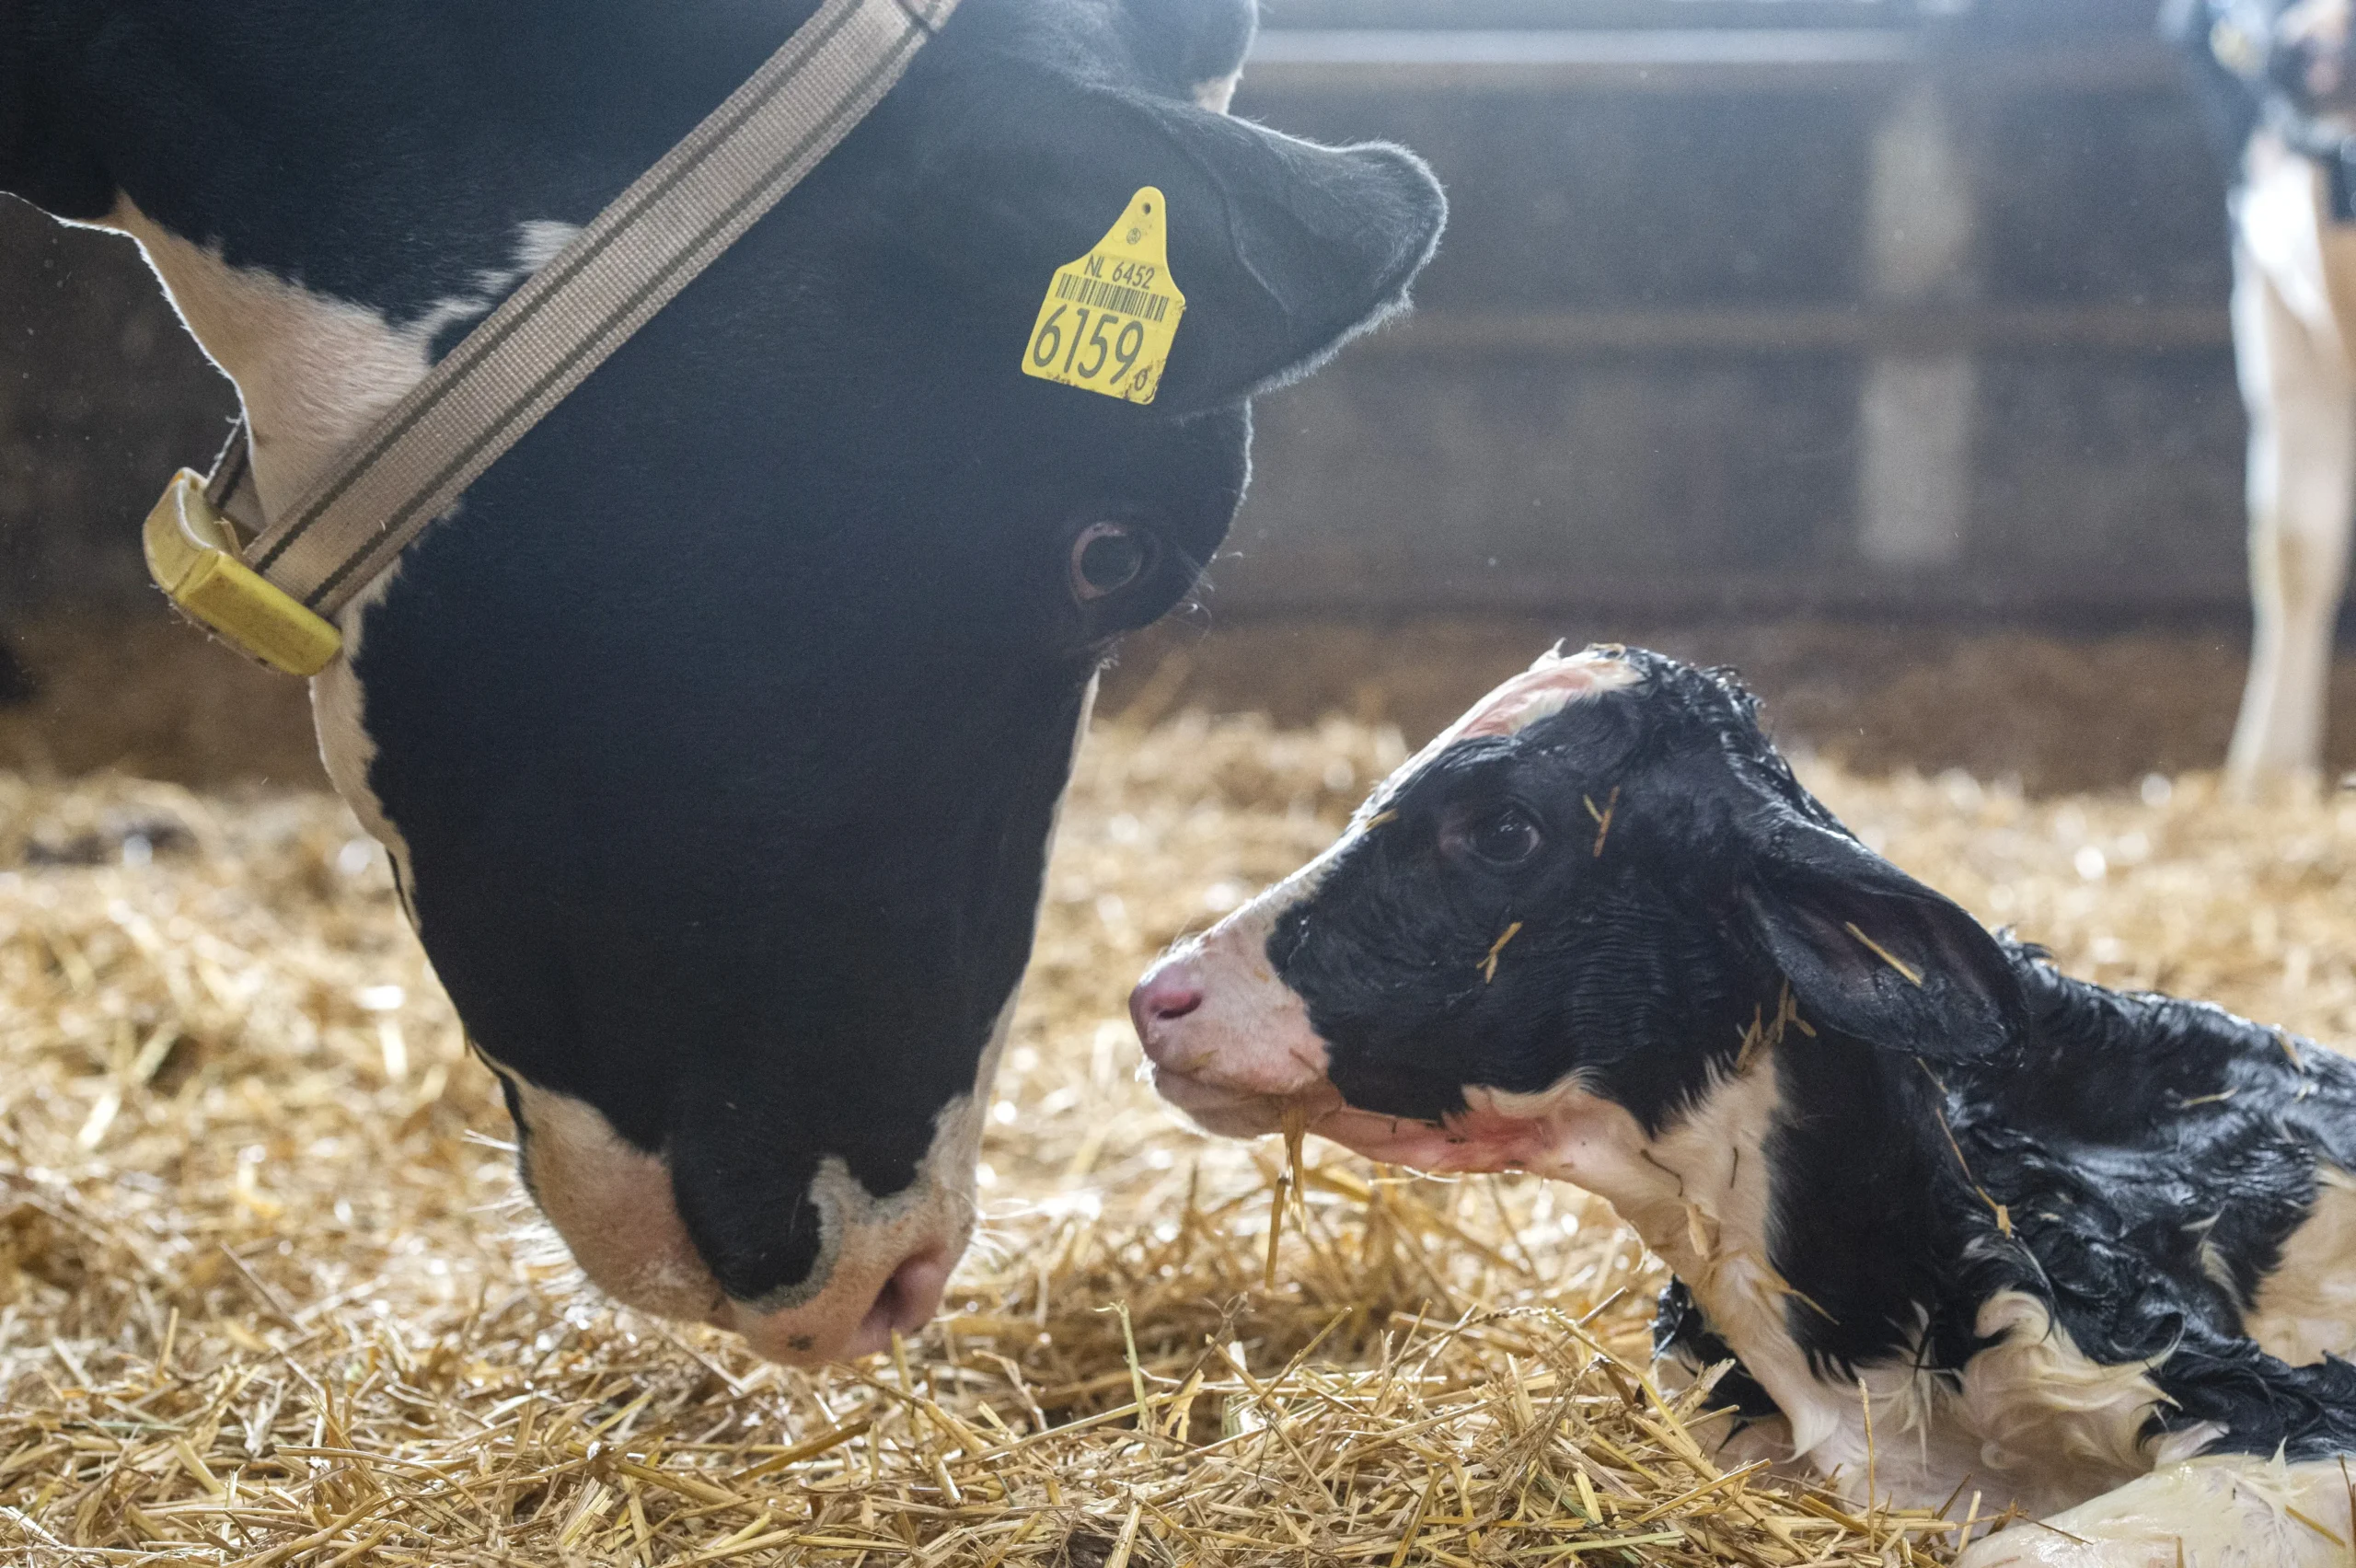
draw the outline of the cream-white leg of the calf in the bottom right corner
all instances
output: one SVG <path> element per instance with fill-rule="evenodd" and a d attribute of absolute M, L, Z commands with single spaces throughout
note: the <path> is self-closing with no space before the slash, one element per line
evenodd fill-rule
<path fill-rule="evenodd" d="M 2347 1568 L 2340 1460 L 2184 1460 L 1998 1530 L 1955 1568 Z"/>

